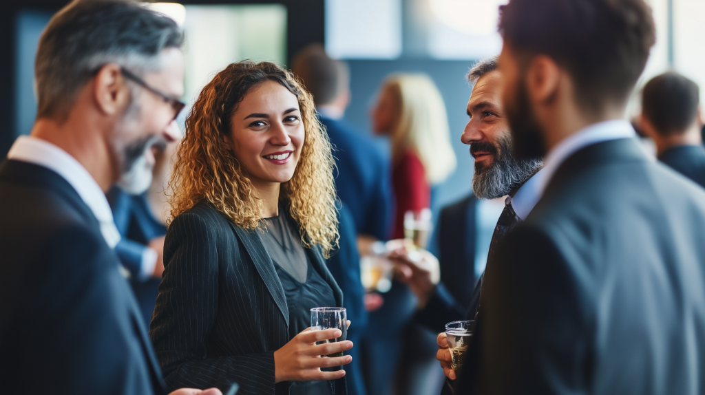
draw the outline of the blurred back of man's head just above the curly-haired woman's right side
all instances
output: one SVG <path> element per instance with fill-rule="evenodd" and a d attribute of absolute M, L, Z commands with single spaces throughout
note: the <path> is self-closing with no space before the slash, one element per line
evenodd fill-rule
<path fill-rule="evenodd" d="M 317 106 L 331 104 L 350 84 L 345 63 L 331 59 L 321 44 L 311 44 L 296 54 L 291 71 L 303 81 Z"/>

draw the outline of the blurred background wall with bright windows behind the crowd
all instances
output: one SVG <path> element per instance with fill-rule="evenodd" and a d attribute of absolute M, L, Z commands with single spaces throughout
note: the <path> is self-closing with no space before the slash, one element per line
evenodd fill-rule
<path fill-rule="evenodd" d="M 675 68 L 705 87 L 705 1 L 648 1 L 658 37 L 640 84 Z M 501 49 L 496 20 L 497 6 L 503 2 L 183 1 L 183 6 L 172 9 L 177 9 L 176 18 L 188 35 L 184 99 L 195 99 L 209 77 L 228 63 L 252 58 L 286 65 L 306 44 L 323 42 L 331 56 L 350 65 L 353 100 L 345 118 L 367 131 L 369 107 L 386 75 L 427 73 L 446 102 L 458 156 L 455 173 L 434 191 L 432 203 L 438 208 L 470 192 L 472 158 L 460 143 L 470 94 L 464 75 L 474 60 Z M 66 3 L 4 0 L 0 5 L 1 156 L 19 134 L 30 132 L 36 111 L 32 78 L 37 41 L 52 13 Z M 637 92 L 630 113 L 638 111 Z M 381 139 L 379 144 L 386 142 Z"/>

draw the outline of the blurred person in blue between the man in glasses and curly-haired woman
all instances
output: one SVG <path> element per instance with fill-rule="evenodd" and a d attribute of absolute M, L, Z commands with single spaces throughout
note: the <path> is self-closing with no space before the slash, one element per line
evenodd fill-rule
<path fill-rule="evenodd" d="M 178 136 L 178 125 L 171 134 Z M 147 192 L 131 195 L 120 187 L 112 187 L 108 203 L 121 239 L 115 246 L 123 267 L 130 272 L 130 286 L 149 329 L 154 303 L 159 293 L 161 272 L 164 272 L 164 235 L 166 234 L 166 183 L 171 175 L 171 156 L 178 139 L 154 150 L 152 184 Z"/>

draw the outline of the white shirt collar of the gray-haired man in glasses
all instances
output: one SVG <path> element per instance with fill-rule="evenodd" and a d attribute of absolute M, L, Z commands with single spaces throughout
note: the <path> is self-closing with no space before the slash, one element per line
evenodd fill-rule
<path fill-rule="evenodd" d="M 61 175 L 95 215 L 105 242 L 111 248 L 118 244 L 120 232 L 113 221 L 108 199 L 88 170 L 73 156 L 50 142 L 36 137 L 20 136 L 12 145 L 7 158 L 40 165 Z"/>

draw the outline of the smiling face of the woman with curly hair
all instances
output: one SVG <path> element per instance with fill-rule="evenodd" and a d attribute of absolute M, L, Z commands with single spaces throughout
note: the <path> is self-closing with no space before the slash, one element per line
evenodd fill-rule
<path fill-rule="evenodd" d="M 232 125 L 229 144 L 256 189 L 291 180 L 305 139 L 294 94 L 262 82 L 245 94 Z"/>

